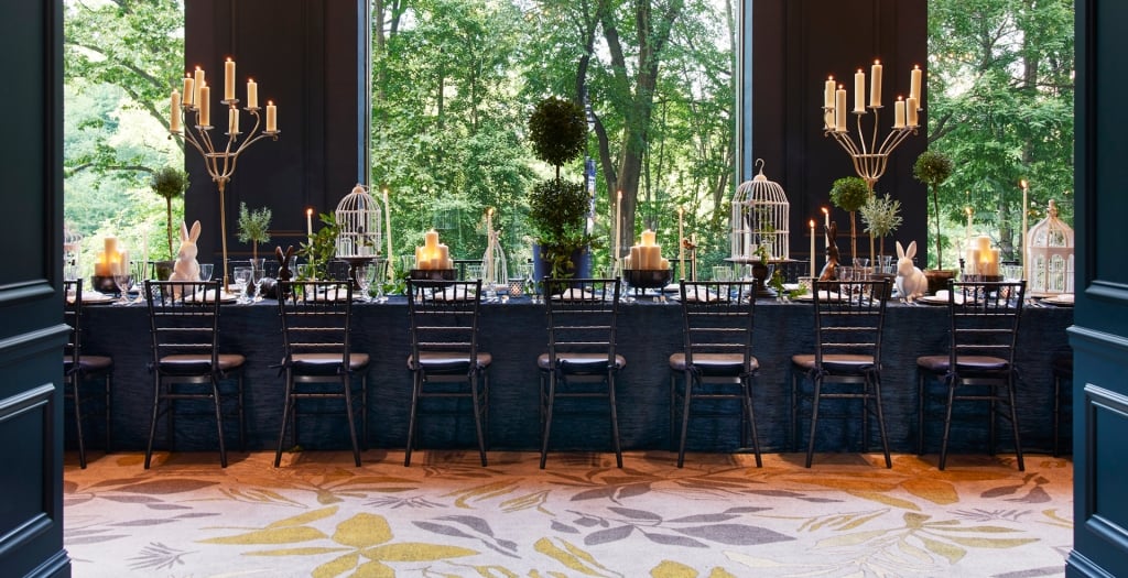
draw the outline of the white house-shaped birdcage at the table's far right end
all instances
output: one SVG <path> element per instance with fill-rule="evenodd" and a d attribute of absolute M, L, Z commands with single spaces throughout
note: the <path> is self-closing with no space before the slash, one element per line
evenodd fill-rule
<path fill-rule="evenodd" d="M 1050 201 L 1042 219 L 1026 232 L 1026 291 L 1032 295 L 1073 293 L 1073 229 L 1058 219 Z"/>

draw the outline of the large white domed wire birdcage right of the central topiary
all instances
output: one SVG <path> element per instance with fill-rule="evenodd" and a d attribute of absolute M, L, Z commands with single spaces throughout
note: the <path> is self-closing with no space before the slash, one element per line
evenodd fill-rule
<path fill-rule="evenodd" d="M 764 161 L 757 159 L 760 172 L 737 187 L 732 197 L 732 260 L 756 263 L 763 260 L 760 246 L 772 261 L 790 258 L 788 214 L 791 204 L 778 183 L 764 176 Z"/>

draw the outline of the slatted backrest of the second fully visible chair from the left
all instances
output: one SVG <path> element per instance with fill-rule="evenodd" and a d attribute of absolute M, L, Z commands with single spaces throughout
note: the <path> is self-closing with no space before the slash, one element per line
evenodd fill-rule
<path fill-rule="evenodd" d="M 335 354 L 349 367 L 352 335 L 352 283 L 287 281 L 279 283 L 279 317 L 285 364 L 294 355 Z"/>

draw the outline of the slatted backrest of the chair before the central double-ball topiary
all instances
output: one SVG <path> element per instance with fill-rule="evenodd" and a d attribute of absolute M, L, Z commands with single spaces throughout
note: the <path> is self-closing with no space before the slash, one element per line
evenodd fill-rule
<path fill-rule="evenodd" d="M 619 279 L 546 277 L 544 287 L 553 365 L 562 354 L 602 353 L 615 367 Z"/>

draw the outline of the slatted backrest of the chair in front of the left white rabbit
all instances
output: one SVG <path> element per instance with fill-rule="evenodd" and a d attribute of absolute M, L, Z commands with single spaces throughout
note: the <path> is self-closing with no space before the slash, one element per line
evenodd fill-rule
<path fill-rule="evenodd" d="M 155 366 L 168 355 L 210 355 L 211 364 L 199 370 L 219 371 L 221 287 L 220 279 L 144 282 Z"/>

